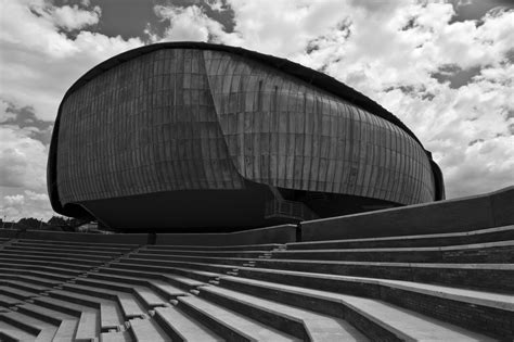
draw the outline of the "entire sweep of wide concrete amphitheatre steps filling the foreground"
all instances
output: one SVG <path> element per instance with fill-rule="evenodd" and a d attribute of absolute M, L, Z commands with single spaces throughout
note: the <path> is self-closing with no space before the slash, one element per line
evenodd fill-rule
<path fill-rule="evenodd" d="M 1 341 L 514 339 L 514 226 L 201 246 L 0 240 Z"/>

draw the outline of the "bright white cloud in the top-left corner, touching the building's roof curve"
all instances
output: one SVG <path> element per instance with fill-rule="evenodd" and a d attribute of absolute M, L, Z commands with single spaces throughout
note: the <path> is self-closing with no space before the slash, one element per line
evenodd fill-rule
<path fill-rule="evenodd" d="M 63 94 L 88 69 L 143 45 L 139 38 L 124 40 L 83 30 L 98 23 L 99 8 L 0 1 L 2 12 L 9 13 L 0 22 L 0 98 L 33 107 L 40 119 L 55 118 Z M 67 35 L 69 29 L 76 33 Z"/>

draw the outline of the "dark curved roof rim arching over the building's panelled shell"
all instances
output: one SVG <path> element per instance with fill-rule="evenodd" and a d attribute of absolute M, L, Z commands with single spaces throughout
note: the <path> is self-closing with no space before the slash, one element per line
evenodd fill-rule
<path fill-rule="evenodd" d="M 160 49 L 198 49 L 198 50 L 214 50 L 214 51 L 224 51 L 230 52 L 233 54 L 237 54 L 244 58 L 248 58 L 255 61 L 259 61 L 266 65 L 272 66 L 277 69 L 280 69 L 288 75 L 295 76 L 310 85 L 313 85 L 318 88 L 321 88 L 334 96 L 343 98 L 361 109 L 380 116 L 396 126 L 403 129 L 409 136 L 411 136 L 415 141 L 423 147 L 421 141 L 407 127 L 398 117 L 396 117 L 393 113 L 384 109 L 382 105 L 376 103 L 375 101 L 371 100 L 370 98 L 363 96 L 362 93 L 358 92 L 351 87 L 346 86 L 345 84 L 338 81 L 334 77 L 327 76 L 323 73 L 317 72 L 309 67 L 303 66 L 298 63 L 292 62 L 286 59 L 280 59 L 270 54 L 262 54 L 256 51 L 246 50 L 243 48 L 237 47 L 230 47 L 223 45 L 215 45 L 208 42 L 200 42 L 200 41 L 174 41 L 174 42 L 160 42 L 144 46 L 141 48 L 137 48 L 133 50 L 129 50 L 117 54 L 99 65 L 91 68 L 89 72 L 83 74 L 73 86 L 66 91 L 63 101 L 76 89 L 80 88 L 92 78 L 97 77 L 98 75 L 102 74 L 103 72 L 119 65 L 124 62 L 132 60 L 137 56 L 142 54 L 146 54 L 156 50 Z M 61 112 L 61 110 L 60 110 Z"/>

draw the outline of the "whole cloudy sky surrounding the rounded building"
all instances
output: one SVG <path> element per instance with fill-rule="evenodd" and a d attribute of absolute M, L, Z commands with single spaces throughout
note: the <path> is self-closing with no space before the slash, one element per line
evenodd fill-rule
<path fill-rule="evenodd" d="M 0 215 L 48 219 L 59 104 L 88 69 L 159 41 L 209 41 L 323 72 L 398 116 L 447 198 L 514 185 L 512 0 L 0 0 Z"/>

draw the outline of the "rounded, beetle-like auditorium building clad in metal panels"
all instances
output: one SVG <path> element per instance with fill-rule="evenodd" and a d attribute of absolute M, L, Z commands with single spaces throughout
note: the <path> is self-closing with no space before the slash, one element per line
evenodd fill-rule
<path fill-rule="evenodd" d="M 395 115 L 291 61 L 202 42 L 145 46 L 59 107 L 55 212 L 120 231 L 229 231 L 445 199 Z"/>

